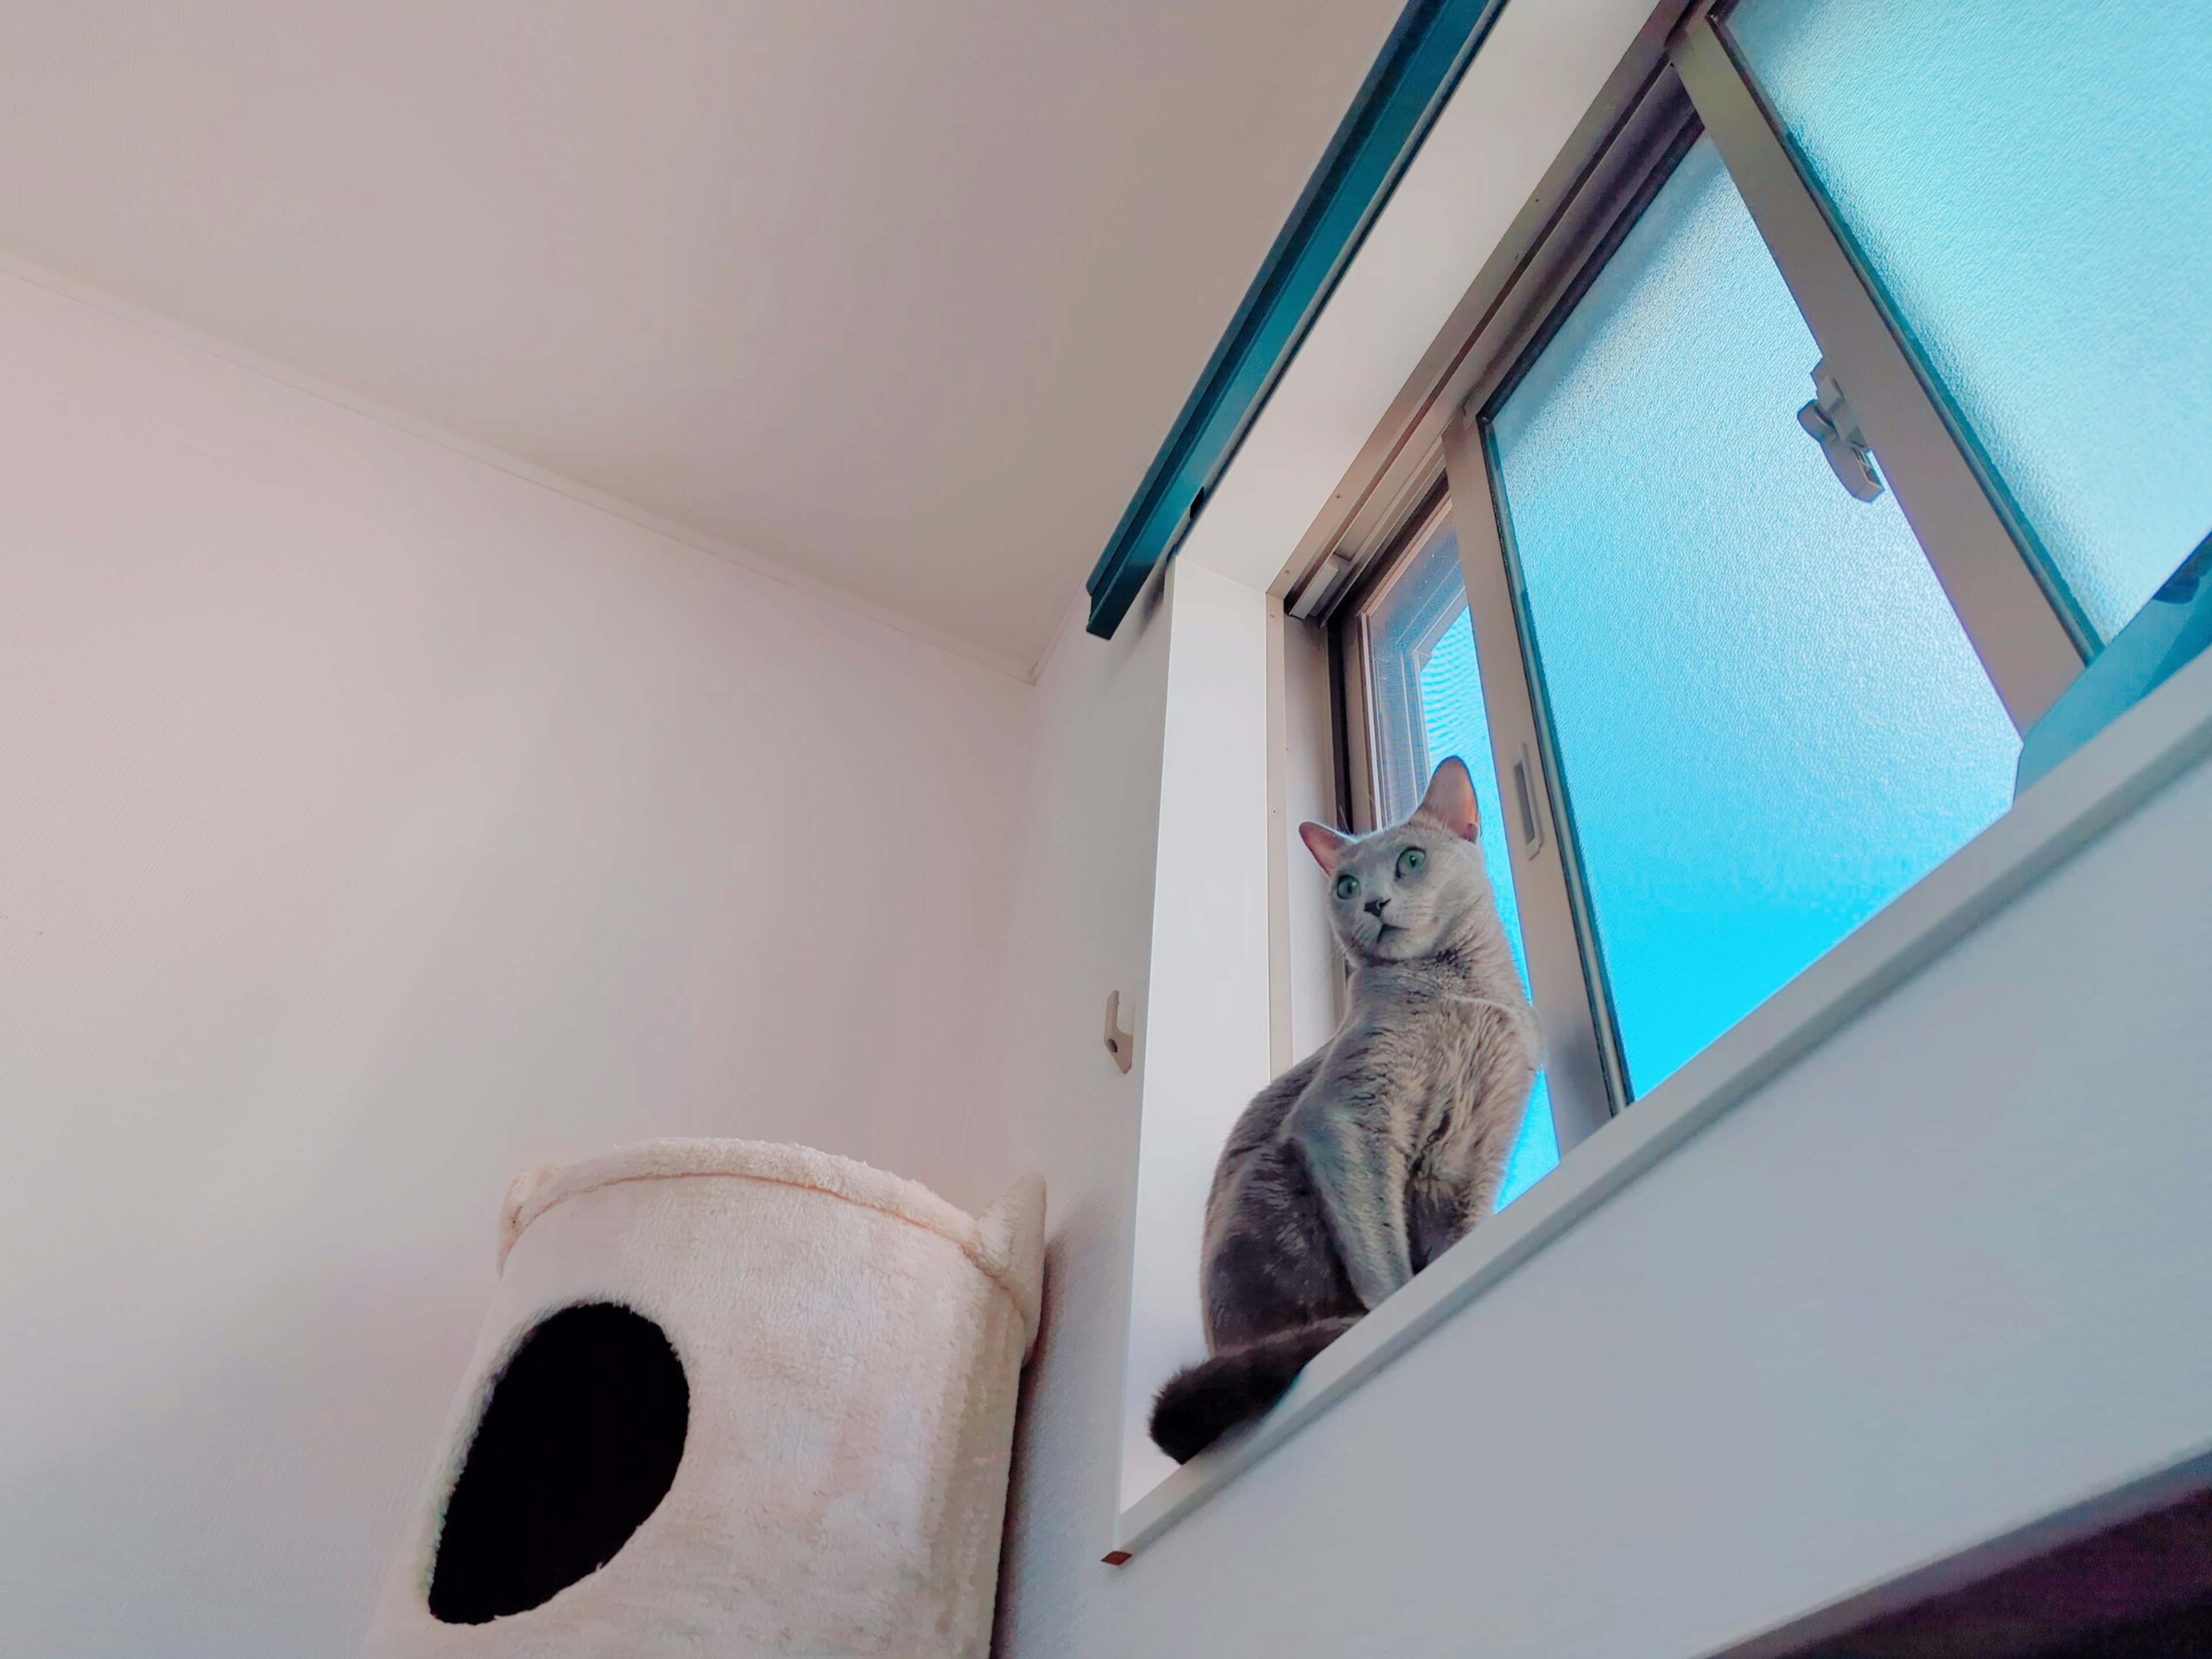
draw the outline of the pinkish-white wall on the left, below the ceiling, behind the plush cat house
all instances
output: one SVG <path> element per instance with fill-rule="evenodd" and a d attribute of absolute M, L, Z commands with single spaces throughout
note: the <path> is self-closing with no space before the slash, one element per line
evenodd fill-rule
<path fill-rule="evenodd" d="M 522 1164 L 987 1199 L 1033 701 L 0 279 L 0 1652 L 352 1652 Z"/>

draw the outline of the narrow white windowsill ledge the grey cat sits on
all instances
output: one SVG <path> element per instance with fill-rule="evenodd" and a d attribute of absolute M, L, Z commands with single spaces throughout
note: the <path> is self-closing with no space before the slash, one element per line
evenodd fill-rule
<path fill-rule="evenodd" d="M 1325 1349 L 1283 1402 L 1115 1517 L 1126 1562 L 1721 1113 L 1905 984 L 2042 876 L 2212 754 L 2212 653 L 2026 790 L 1997 823 L 1761 1002 L 1632 1110 Z"/>

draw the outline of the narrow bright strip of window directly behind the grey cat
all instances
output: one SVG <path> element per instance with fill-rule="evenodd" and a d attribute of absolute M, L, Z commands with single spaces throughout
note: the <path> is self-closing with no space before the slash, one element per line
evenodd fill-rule
<path fill-rule="evenodd" d="M 1513 854 L 1506 845 L 1498 770 L 1491 763 L 1491 723 L 1482 710 L 1482 677 L 1475 670 L 1475 635 L 1467 619 L 1467 584 L 1460 577 L 1460 544 L 1440 524 L 1369 615 L 1376 734 L 1380 741 L 1383 816 L 1402 818 L 1420 803 L 1429 768 L 1447 754 L 1467 761 L 1482 810 L 1482 863 L 1498 894 L 1498 920 L 1513 947 L 1522 991 L 1528 989 L 1528 953 L 1522 947 L 1520 905 L 1513 894 Z M 1498 1208 L 1542 1181 L 1559 1164 L 1559 1139 L 1551 1121 L 1551 1088 L 1537 1073 L 1528 1115 L 1506 1159 Z"/>

